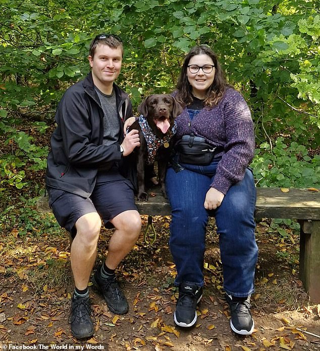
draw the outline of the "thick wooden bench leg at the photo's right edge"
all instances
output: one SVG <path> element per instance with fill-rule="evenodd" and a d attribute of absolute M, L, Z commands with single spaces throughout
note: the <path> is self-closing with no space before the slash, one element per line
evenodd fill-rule
<path fill-rule="evenodd" d="M 300 223 L 300 278 L 310 300 L 320 303 L 320 221 Z"/>

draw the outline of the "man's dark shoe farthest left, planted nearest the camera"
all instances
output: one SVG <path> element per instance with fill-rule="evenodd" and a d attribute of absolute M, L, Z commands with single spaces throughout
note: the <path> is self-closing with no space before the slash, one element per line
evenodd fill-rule
<path fill-rule="evenodd" d="M 71 332 L 77 339 L 84 339 L 93 335 L 91 316 L 89 297 L 72 296 L 69 323 Z"/>

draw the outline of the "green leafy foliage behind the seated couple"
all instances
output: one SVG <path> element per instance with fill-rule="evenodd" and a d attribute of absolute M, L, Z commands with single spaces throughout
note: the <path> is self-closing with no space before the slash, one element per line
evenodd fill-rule
<path fill-rule="evenodd" d="M 209 45 L 251 107 L 257 186 L 319 187 L 319 7 L 318 0 L 0 0 L 0 188 L 34 187 L 26 165 L 44 170 L 48 147 L 30 131 L 46 133 L 66 88 L 87 74 L 88 46 L 101 32 L 124 41 L 118 83 L 135 107 L 145 95 L 171 92 L 185 53 Z"/>

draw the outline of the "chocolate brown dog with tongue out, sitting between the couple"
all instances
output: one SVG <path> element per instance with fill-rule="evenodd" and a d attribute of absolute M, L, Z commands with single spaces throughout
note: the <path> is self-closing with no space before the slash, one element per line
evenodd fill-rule
<path fill-rule="evenodd" d="M 165 197 L 165 177 L 171 153 L 171 139 L 176 133 L 175 118 L 182 112 L 182 107 L 174 97 L 168 94 L 148 96 L 138 106 L 141 114 L 131 129 L 139 130 L 140 147 L 136 149 L 138 200 L 148 200 L 145 186 L 145 166 L 158 164 L 158 180 Z"/>

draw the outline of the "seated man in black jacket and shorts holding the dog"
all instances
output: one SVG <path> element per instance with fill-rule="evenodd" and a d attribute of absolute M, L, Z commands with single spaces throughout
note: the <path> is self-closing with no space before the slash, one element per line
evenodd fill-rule
<path fill-rule="evenodd" d="M 140 142 L 137 130 L 126 136 L 123 133 L 132 105 L 115 84 L 122 57 L 122 43 L 116 35 L 100 34 L 92 40 L 88 56 L 91 72 L 64 94 L 47 159 L 49 205 L 59 224 L 74 238 L 70 259 L 75 290 L 69 323 L 78 339 L 93 335 L 88 282 L 95 264 L 101 218 L 115 231 L 93 283 L 115 314 L 128 312 L 115 269 L 141 230 L 133 187 L 125 178 L 125 171 L 130 170 L 126 156 Z"/>

